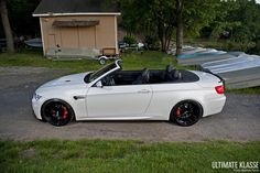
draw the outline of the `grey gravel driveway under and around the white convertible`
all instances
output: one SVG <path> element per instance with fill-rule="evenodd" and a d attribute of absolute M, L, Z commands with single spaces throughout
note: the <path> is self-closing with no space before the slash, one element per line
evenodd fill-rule
<path fill-rule="evenodd" d="M 53 127 L 32 116 L 31 97 L 42 83 L 66 71 L 39 67 L 0 67 L 0 138 L 138 139 L 145 141 L 260 140 L 260 95 L 227 94 L 221 113 L 192 127 L 165 121 L 84 121 Z"/>

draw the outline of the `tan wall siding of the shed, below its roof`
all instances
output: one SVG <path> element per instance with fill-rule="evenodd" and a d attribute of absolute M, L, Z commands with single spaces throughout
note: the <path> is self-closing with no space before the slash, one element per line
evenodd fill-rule
<path fill-rule="evenodd" d="M 44 17 L 40 18 L 44 53 L 57 44 L 64 48 L 117 48 L 117 21 L 111 17 Z M 71 20 L 98 20 L 96 26 L 56 28 L 53 22 Z M 116 23 L 115 23 L 116 22 Z M 118 53 L 118 50 L 117 50 Z"/>

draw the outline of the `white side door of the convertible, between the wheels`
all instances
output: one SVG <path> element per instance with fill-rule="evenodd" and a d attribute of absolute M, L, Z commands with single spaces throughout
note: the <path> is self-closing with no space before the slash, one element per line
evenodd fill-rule
<path fill-rule="evenodd" d="M 151 97 L 150 85 L 93 86 L 87 91 L 87 118 L 141 118 Z"/>

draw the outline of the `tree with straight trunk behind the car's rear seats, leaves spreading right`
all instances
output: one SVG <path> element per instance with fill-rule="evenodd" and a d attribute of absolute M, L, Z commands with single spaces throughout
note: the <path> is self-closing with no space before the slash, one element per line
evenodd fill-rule
<path fill-rule="evenodd" d="M 219 6 L 220 0 L 176 0 L 176 55 L 182 53 L 184 32 L 186 36 L 199 35 L 199 31 L 217 17 Z"/>

